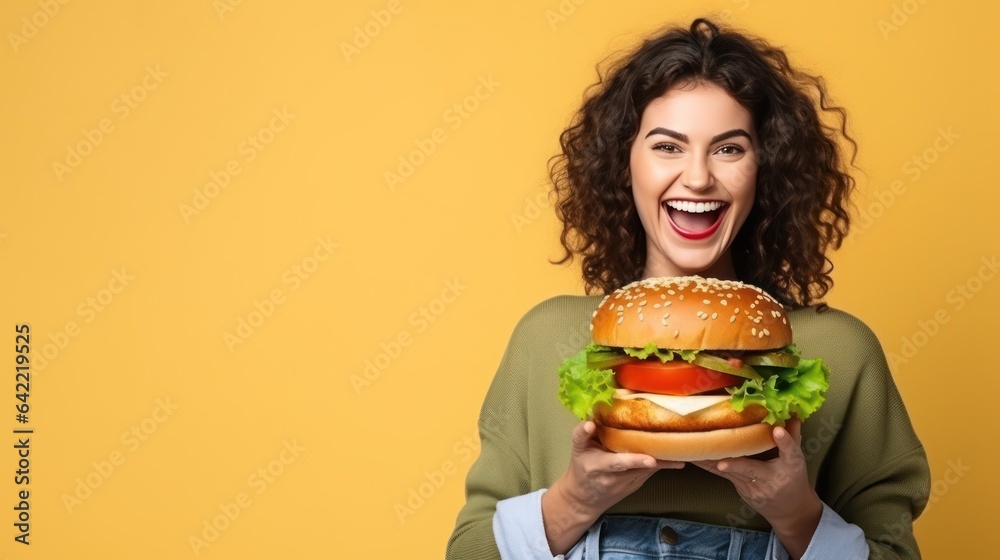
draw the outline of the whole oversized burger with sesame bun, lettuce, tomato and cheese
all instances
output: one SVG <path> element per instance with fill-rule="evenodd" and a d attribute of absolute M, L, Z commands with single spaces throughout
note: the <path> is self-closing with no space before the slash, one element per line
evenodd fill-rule
<path fill-rule="evenodd" d="M 775 446 L 774 425 L 823 403 L 782 305 L 743 282 L 648 278 L 594 311 L 593 342 L 559 367 L 559 399 L 611 451 L 697 461 Z"/>

